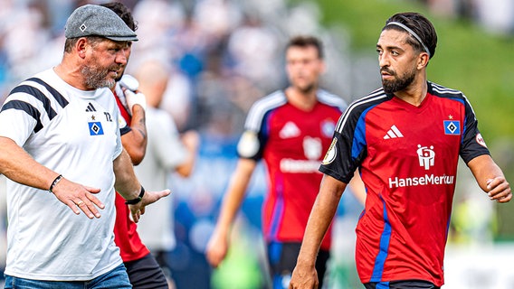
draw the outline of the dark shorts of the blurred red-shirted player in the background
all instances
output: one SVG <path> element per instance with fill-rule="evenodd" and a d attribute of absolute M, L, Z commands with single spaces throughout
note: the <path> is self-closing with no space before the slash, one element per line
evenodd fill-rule
<path fill-rule="evenodd" d="M 296 260 L 300 253 L 301 243 L 279 243 L 271 242 L 268 244 L 268 261 L 271 269 L 271 281 L 273 288 L 288 288 L 290 276 Z M 318 273 L 319 286 L 323 285 L 323 277 L 327 271 L 327 261 L 330 252 L 319 250 L 316 258 L 316 272 Z"/>

